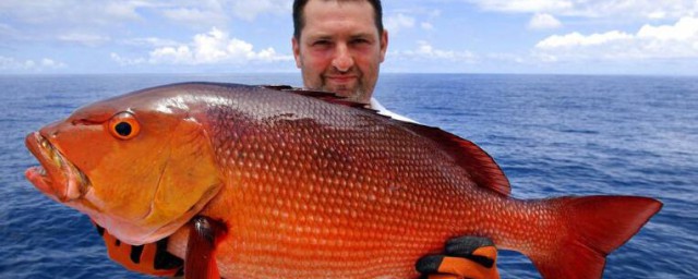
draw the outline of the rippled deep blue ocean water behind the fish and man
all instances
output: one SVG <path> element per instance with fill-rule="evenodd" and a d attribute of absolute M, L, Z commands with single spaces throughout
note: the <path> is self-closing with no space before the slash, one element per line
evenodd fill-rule
<path fill-rule="evenodd" d="M 0 278 L 144 278 L 111 263 L 88 219 L 24 179 L 24 136 L 91 101 L 185 81 L 300 85 L 298 74 L 0 76 Z M 622 194 L 662 211 L 607 257 L 604 278 L 698 274 L 698 77 L 384 74 L 393 111 L 469 138 L 519 198 Z M 503 278 L 535 278 L 503 251 Z"/>

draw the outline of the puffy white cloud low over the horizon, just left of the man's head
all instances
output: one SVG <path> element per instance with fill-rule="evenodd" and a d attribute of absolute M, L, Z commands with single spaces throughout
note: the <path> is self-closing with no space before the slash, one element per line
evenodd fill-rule
<path fill-rule="evenodd" d="M 252 44 L 230 38 L 228 33 L 213 28 L 195 35 L 192 43 L 159 47 L 148 58 L 124 58 L 111 53 L 111 59 L 121 65 L 131 64 L 244 64 L 248 62 L 292 61 L 292 56 L 277 54 L 274 48 L 254 50 Z"/>

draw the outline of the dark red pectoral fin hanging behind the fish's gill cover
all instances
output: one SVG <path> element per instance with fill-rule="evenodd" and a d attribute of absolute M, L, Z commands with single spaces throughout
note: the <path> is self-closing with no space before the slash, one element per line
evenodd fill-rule
<path fill-rule="evenodd" d="M 222 223 L 203 216 L 194 217 L 191 220 L 184 259 L 184 278 L 220 278 L 216 264 L 216 244 L 224 234 L 225 226 Z"/>

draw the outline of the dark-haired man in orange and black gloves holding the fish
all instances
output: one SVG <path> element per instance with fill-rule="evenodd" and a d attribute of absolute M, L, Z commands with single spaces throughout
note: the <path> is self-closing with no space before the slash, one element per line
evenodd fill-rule
<path fill-rule="evenodd" d="M 308 89 L 333 92 L 370 105 L 393 118 L 372 98 L 388 33 L 383 29 L 380 0 L 296 0 L 292 49 Z M 130 246 L 99 230 L 109 256 L 124 267 L 148 275 L 181 272 L 181 259 L 167 252 L 167 240 Z M 417 264 L 428 278 L 498 278 L 496 248 L 482 238 L 458 238 L 446 243 L 444 255 L 429 255 Z"/>

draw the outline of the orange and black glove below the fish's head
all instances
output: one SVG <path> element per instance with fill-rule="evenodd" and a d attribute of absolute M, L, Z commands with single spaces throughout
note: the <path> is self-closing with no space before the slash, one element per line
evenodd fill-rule
<path fill-rule="evenodd" d="M 127 269 L 140 274 L 173 277 L 183 275 L 184 260 L 167 252 L 167 239 L 144 245 L 129 245 L 109 234 L 104 228 L 97 227 L 97 232 L 105 240 L 107 253 L 111 260 Z"/>

